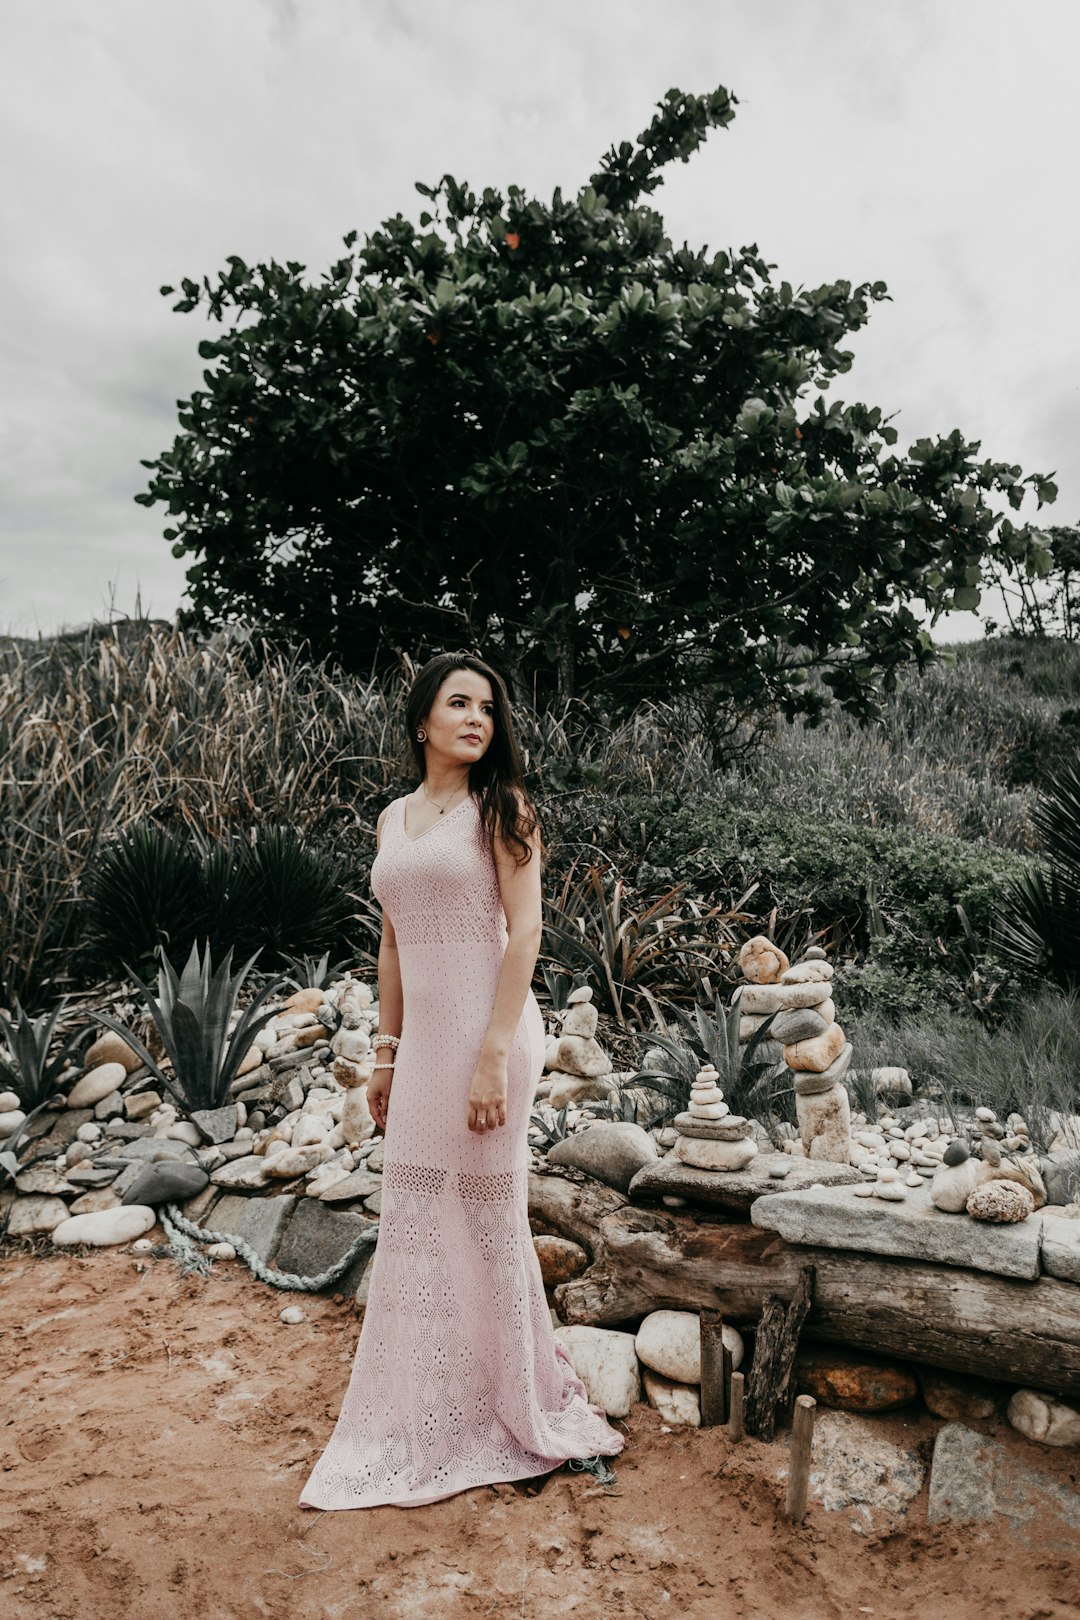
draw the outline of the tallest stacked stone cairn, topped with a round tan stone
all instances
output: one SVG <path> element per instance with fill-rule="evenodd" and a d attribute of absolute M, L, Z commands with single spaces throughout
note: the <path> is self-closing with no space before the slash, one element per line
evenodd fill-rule
<path fill-rule="evenodd" d="M 795 1089 L 805 1155 L 834 1165 L 850 1163 L 852 1110 L 842 1081 L 852 1063 L 852 1047 L 836 1022 L 832 966 L 826 953 L 811 946 L 792 967 L 779 946 L 756 935 L 742 948 L 738 962 L 748 980 L 732 998 L 742 1013 L 740 1040 L 750 1042 L 772 1017 L 769 1035 L 779 1043 L 787 1079 Z"/>

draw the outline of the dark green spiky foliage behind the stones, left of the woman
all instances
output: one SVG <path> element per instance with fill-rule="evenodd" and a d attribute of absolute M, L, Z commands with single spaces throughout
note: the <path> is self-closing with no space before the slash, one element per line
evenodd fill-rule
<path fill-rule="evenodd" d="M 183 956 L 266 951 L 272 962 L 345 943 L 355 906 L 345 865 L 293 828 L 261 826 L 210 841 L 149 821 L 104 844 L 86 880 L 86 959 L 141 970 L 159 948 Z"/>

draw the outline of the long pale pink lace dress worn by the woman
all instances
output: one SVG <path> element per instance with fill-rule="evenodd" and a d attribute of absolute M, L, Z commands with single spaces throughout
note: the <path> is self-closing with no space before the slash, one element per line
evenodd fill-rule
<path fill-rule="evenodd" d="M 507 944 L 478 802 L 410 839 L 397 799 L 371 886 L 393 923 L 405 1016 L 368 1311 L 334 1434 L 300 1495 L 314 1508 L 416 1507 L 623 1445 L 555 1343 L 533 1249 L 526 1132 L 544 1021 L 531 990 L 510 1047 L 507 1123 L 466 1124 Z"/>

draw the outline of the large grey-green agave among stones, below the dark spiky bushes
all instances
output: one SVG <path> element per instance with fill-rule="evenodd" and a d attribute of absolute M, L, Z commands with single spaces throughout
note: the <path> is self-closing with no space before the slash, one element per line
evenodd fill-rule
<path fill-rule="evenodd" d="M 105 1024 L 107 1029 L 113 1029 L 118 1035 L 123 1035 L 183 1113 L 193 1116 L 202 1108 L 223 1108 L 230 1100 L 230 1085 L 236 1079 L 236 1071 L 251 1050 L 254 1037 L 274 1017 L 272 1011 L 261 1013 L 259 1008 L 282 985 L 280 978 L 274 978 L 266 985 L 254 1001 L 236 1017 L 230 1034 L 230 1024 L 236 1013 L 236 998 L 254 961 L 254 956 L 249 957 L 240 972 L 230 977 L 233 962 L 232 949 L 227 951 L 219 967 L 212 970 L 209 941 L 206 954 L 199 953 L 196 941 L 191 946 L 191 954 L 183 972 L 178 974 L 162 951 L 157 995 L 128 969 L 154 1019 L 159 1038 L 172 1064 L 172 1074 L 151 1056 L 139 1037 L 126 1024 L 110 1017 L 107 1013 L 94 1013 L 92 1016 L 99 1024 Z"/>

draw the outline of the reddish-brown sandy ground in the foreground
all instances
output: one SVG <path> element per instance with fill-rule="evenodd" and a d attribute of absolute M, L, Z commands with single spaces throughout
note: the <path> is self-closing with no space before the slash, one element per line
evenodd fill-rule
<path fill-rule="evenodd" d="M 160 1228 L 151 1233 L 160 1239 Z M 279 1322 L 300 1301 L 308 1319 Z M 0 1252 L 0 1612 L 6 1620 L 557 1615 L 1062 1620 L 1080 1547 L 782 1515 L 784 1447 L 625 1424 L 617 1482 L 559 1471 L 424 1508 L 298 1507 L 348 1379 L 351 1302 L 130 1251 Z M 928 1416 L 878 1419 L 907 1443 Z M 1077 1458 L 1027 1447 L 1075 1474 Z"/>

